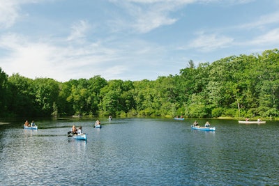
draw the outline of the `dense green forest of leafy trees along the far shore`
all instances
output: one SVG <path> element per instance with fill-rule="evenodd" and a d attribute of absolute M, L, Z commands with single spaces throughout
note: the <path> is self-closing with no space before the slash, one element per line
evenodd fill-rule
<path fill-rule="evenodd" d="M 0 68 L 0 117 L 279 115 L 278 49 L 186 66 L 179 75 L 135 82 L 100 76 L 57 82 L 9 77 Z"/>

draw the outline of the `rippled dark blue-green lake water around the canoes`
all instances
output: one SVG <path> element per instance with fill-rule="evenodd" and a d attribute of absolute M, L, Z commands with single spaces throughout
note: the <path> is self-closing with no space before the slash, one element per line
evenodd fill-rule
<path fill-rule="evenodd" d="M 0 185 L 279 185 L 279 122 L 101 118 L 0 125 Z M 200 124 L 206 121 L 198 119 Z M 82 125 L 87 141 L 68 139 Z"/>

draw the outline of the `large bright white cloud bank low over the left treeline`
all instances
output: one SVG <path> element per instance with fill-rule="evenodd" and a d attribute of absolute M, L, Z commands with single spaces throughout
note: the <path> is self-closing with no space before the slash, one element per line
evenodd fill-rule
<path fill-rule="evenodd" d="M 58 45 L 57 45 L 58 44 Z M 119 59 L 123 52 L 101 43 L 61 46 L 50 40 L 32 42 L 24 36 L 1 36 L 0 48 L 8 51 L 1 57 L 0 66 L 8 75 L 19 73 L 24 77 L 50 77 L 65 82 L 69 79 L 90 78 L 101 75 L 114 79 L 125 73 L 128 66 Z M 120 61 L 120 62 L 119 62 Z"/>

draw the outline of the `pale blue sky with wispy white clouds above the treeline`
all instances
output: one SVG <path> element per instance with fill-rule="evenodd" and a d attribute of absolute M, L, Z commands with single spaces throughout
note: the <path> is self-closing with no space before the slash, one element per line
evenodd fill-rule
<path fill-rule="evenodd" d="M 32 79 L 154 80 L 278 45 L 277 0 L 0 0 L 0 67 Z"/>

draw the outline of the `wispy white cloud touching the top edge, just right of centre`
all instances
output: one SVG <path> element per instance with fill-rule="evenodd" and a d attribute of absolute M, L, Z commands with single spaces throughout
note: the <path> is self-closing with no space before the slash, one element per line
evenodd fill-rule
<path fill-rule="evenodd" d="M 128 29 L 131 27 L 139 33 L 148 33 L 160 26 L 176 23 L 178 17 L 171 17 L 171 13 L 183 8 L 191 3 L 218 3 L 232 6 L 239 3 L 249 3 L 254 0 L 111 0 L 123 8 L 132 20 L 127 17 L 114 17 L 114 26 L 119 24 L 120 28 Z M 120 21 L 121 20 L 121 21 Z M 119 29 L 115 29 L 119 31 Z"/>

